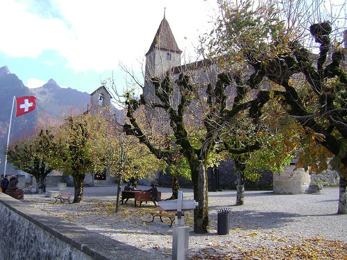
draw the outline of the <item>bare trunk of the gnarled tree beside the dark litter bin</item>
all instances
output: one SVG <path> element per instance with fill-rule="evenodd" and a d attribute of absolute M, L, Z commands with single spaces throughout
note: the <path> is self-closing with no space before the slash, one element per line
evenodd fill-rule
<path fill-rule="evenodd" d="M 197 234 L 208 233 L 210 230 L 208 216 L 208 183 L 204 161 L 193 159 L 190 162 L 190 170 L 194 189 L 194 200 L 199 203 L 199 206 L 194 209 L 194 232 Z"/>

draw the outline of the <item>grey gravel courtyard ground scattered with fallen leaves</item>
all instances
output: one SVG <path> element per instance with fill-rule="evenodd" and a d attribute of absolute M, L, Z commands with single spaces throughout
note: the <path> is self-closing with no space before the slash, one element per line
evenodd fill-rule
<path fill-rule="evenodd" d="M 146 190 L 149 187 L 139 186 L 138 189 Z M 158 189 L 163 199 L 171 196 L 171 189 Z M 73 194 L 72 187 L 67 187 L 66 191 Z M 191 189 L 182 191 L 183 199 L 193 199 Z M 300 248 L 300 245 L 311 247 L 326 241 L 342 243 L 342 248 L 339 244 L 337 249 L 329 246 L 326 251 L 347 249 L 347 215 L 336 213 L 338 188 L 323 188 L 319 194 L 276 195 L 272 191 L 246 191 L 245 194 L 245 205 L 236 207 L 236 191 L 209 192 L 209 234 L 195 234 L 193 212 L 185 212 L 185 224 L 190 227 L 186 259 L 280 259 L 275 256 L 245 256 L 257 250 L 270 254 L 271 250 L 281 247 L 289 247 L 288 250 L 291 250 Z M 129 199 L 127 204 L 120 205 L 120 212 L 115 213 L 116 186 L 85 187 L 83 202 L 80 204 L 54 202 L 55 199 L 46 198 L 45 194 L 25 195 L 24 198 L 24 203 L 86 229 L 146 251 L 157 252 L 167 259 L 172 257 L 173 228 L 169 227 L 169 219 L 164 218 L 164 222 L 161 222 L 156 217 L 152 222 L 148 211 L 154 210 L 153 203 L 135 208 L 133 200 Z M 217 234 L 217 208 L 220 207 L 231 210 L 228 235 Z M 323 257 L 322 253 L 319 255 Z M 347 256 L 341 259 L 347 259 Z"/>

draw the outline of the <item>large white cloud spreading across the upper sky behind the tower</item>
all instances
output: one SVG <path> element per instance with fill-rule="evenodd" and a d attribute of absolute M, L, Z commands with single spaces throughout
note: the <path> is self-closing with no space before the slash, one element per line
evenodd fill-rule
<path fill-rule="evenodd" d="M 194 53 L 199 32 L 205 33 L 215 1 L 206 0 L 52 0 L 43 8 L 34 0 L 1 4 L 0 51 L 13 57 L 39 57 L 54 50 L 74 71 L 102 72 L 121 61 L 137 66 L 150 47 L 164 16 L 179 48 Z M 47 5 L 47 6 L 46 6 Z M 48 9 L 50 8 L 50 9 Z"/>

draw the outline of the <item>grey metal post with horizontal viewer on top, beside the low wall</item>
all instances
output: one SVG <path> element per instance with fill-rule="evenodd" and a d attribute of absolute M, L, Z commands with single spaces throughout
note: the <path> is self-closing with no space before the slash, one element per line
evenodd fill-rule
<path fill-rule="evenodd" d="M 173 260 L 184 260 L 185 249 L 188 248 L 189 227 L 184 226 L 182 211 L 198 207 L 195 200 L 183 201 L 183 192 L 178 192 L 178 199 L 174 201 L 159 202 L 158 206 L 165 211 L 177 211 L 173 225 Z"/>

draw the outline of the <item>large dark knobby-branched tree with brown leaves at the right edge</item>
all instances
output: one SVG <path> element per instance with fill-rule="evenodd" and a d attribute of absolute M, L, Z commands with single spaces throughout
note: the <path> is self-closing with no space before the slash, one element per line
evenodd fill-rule
<path fill-rule="evenodd" d="M 296 166 L 320 173 L 329 160 L 340 174 L 338 213 L 346 214 L 347 74 L 342 66 L 341 37 L 339 40 L 345 29 L 339 27 L 337 17 L 324 17 L 319 1 L 311 5 L 313 10 L 302 1 L 289 1 L 277 8 L 272 1 L 258 7 L 251 1 L 219 3 L 221 17 L 210 53 L 223 54 L 224 63 L 245 66 L 239 73 L 247 79 L 247 87 L 276 100 L 296 119 L 303 140 Z M 346 4 L 341 11 L 346 11 Z M 315 17 L 316 13 L 319 16 Z M 315 43 L 305 38 L 304 28 L 309 28 Z M 309 51 L 316 46 L 318 54 Z M 245 70 L 251 71 L 251 76 Z M 269 88 L 264 91 L 266 81 Z"/>

